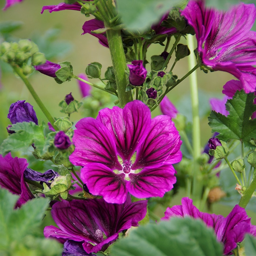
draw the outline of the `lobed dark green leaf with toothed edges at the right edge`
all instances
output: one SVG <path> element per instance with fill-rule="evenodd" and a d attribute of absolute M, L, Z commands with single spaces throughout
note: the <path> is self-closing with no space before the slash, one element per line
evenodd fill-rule
<path fill-rule="evenodd" d="M 256 111 L 254 98 L 253 93 L 237 91 L 233 99 L 227 100 L 227 117 L 215 111 L 211 112 L 208 117 L 209 125 L 212 132 L 219 132 L 217 138 L 225 142 L 229 139 L 242 140 L 247 145 L 251 138 L 256 138 L 256 119 L 251 119 L 252 113 Z"/>

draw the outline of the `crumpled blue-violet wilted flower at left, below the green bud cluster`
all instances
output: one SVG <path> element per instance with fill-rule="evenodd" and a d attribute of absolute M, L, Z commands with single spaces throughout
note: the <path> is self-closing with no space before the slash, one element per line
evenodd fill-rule
<path fill-rule="evenodd" d="M 12 103 L 7 117 L 12 124 L 32 121 L 38 125 L 37 115 L 33 106 L 28 102 L 25 103 L 25 100 Z"/>

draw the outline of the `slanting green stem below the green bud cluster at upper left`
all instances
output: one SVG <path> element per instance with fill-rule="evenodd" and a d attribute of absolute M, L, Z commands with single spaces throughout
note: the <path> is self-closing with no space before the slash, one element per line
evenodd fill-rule
<path fill-rule="evenodd" d="M 32 97 L 34 98 L 34 100 L 37 102 L 37 105 L 39 106 L 39 108 L 42 110 L 42 112 L 44 113 L 44 115 L 46 116 L 46 118 L 48 119 L 48 121 L 50 122 L 50 124 L 53 126 L 53 128 L 55 129 L 55 131 L 58 131 L 59 129 L 54 125 L 54 118 L 51 116 L 51 114 L 49 113 L 49 111 L 46 109 L 44 103 L 41 101 L 41 99 L 38 97 L 37 93 L 35 92 L 33 86 L 31 85 L 31 83 L 29 82 L 29 80 L 27 79 L 27 77 L 23 74 L 22 69 L 17 67 L 17 66 L 12 66 L 12 68 L 14 69 L 15 73 L 22 79 L 22 81 L 25 83 L 27 89 L 29 90 L 29 92 L 31 93 Z"/>

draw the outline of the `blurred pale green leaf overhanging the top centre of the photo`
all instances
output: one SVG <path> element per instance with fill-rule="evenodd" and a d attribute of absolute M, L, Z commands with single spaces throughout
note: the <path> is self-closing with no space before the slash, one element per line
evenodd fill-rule
<path fill-rule="evenodd" d="M 179 0 L 117 0 L 117 9 L 125 27 L 131 31 L 145 31 L 157 23 Z M 184 2 L 184 1 L 183 1 Z"/>

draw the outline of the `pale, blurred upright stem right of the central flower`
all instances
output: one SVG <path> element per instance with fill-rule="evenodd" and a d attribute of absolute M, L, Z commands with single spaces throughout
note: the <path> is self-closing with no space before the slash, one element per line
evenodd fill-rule
<path fill-rule="evenodd" d="M 188 35 L 188 47 L 194 49 L 194 42 L 192 35 Z M 196 59 L 193 54 L 188 56 L 188 65 L 191 69 L 190 80 L 190 93 L 192 103 L 192 141 L 193 141 L 193 188 L 192 188 L 192 199 L 197 208 L 200 208 L 200 202 L 203 192 L 202 184 L 202 173 L 200 172 L 200 166 L 197 159 L 201 155 L 200 146 L 200 119 L 199 119 L 199 99 L 198 99 L 198 88 L 197 88 L 197 76 L 193 71 L 198 67 Z M 193 68 L 194 67 L 194 68 Z"/>

